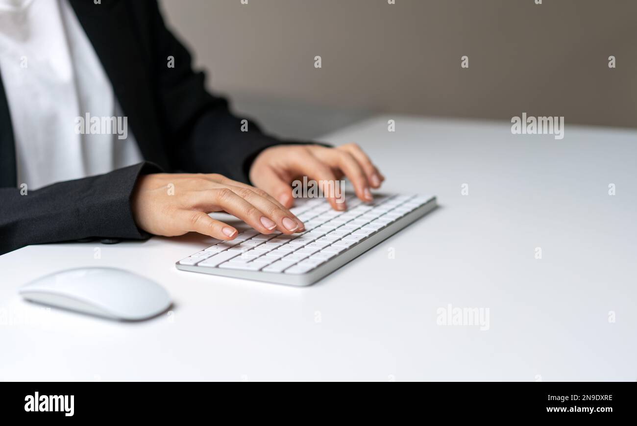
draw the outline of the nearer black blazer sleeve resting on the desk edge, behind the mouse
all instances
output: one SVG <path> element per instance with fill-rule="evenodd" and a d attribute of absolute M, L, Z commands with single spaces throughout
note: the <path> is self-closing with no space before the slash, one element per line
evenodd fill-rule
<path fill-rule="evenodd" d="M 0 254 L 29 244 L 89 237 L 145 239 L 130 198 L 139 175 L 161 172 L 151 163 L 67 180 L 28 191 L 0 188 Z"/>

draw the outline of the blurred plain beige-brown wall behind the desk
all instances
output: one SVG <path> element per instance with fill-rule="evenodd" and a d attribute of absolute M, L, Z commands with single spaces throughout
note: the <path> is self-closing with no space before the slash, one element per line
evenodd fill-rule
<path fill-rule="evenodd" d="M 208 84 L 280 131 L 287 123 L 303 135 L 290 124 L 300 121 L 317 133 L 373 112 L 507 121 L 527 112 L 637 127 L 637 1 L 162 0 L 162 7 L 210 71 Z M 617 68 L 608 68 L 609 55 Z"/>

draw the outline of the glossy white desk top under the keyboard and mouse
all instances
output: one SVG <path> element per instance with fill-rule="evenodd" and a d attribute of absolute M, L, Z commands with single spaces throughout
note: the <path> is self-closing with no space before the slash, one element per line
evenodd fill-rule
<path fill-rule="evenodd" d="M 206 247 L 196 235 L 5 254 L 0 380 L 637 379 L 636 131 L 567 123 L 554 140 L 508 122 L 377 117 L 324 139 L 360 143 L 387 190 L 441 207 L 308 288 L 176 270 Z M 84 265 L 157 280 L 173 313 L 117 323 L 17 295 Z M 489 308 L 489 330 L 437 325 L 448 304 Z"/>

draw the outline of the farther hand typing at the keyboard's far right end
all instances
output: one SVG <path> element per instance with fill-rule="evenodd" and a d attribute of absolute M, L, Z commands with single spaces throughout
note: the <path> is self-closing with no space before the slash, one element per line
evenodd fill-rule
<path fill-rule="evenodd" d="M 293 203 L 292 187 L 295 179 L 307 176 L 308 180 L 335 182 L 343 176 L 354 184 L 361 200 L 373 200 L 370 188 L 378 188 L 383 177 L 369 157 L 355 143 L 337 148 L 321 145 L 276 145 L 269 147 L 255 158 L 250 168 L 250 180 L 255 186 L 273 195 L 285 207 Z M 322 188 L 326 195 L 333 195 Z M 327 197 L 336 210 L 345 210 L 344 200 Z"/>

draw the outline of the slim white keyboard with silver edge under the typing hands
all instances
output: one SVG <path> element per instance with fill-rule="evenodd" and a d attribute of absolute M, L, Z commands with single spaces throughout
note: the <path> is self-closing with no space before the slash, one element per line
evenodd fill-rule
<path fill-rule="evenodd" d="M 297 198 L 290 209 L 305 231 L 284 235 L 242 231 L 176 263 L 180 270 L 269 283 L 306 286 L 436 207 L 435 196 L 376 195 L 363 203 L 347 195 L 348 209 L 333 210 L 323 198 Z"/>

